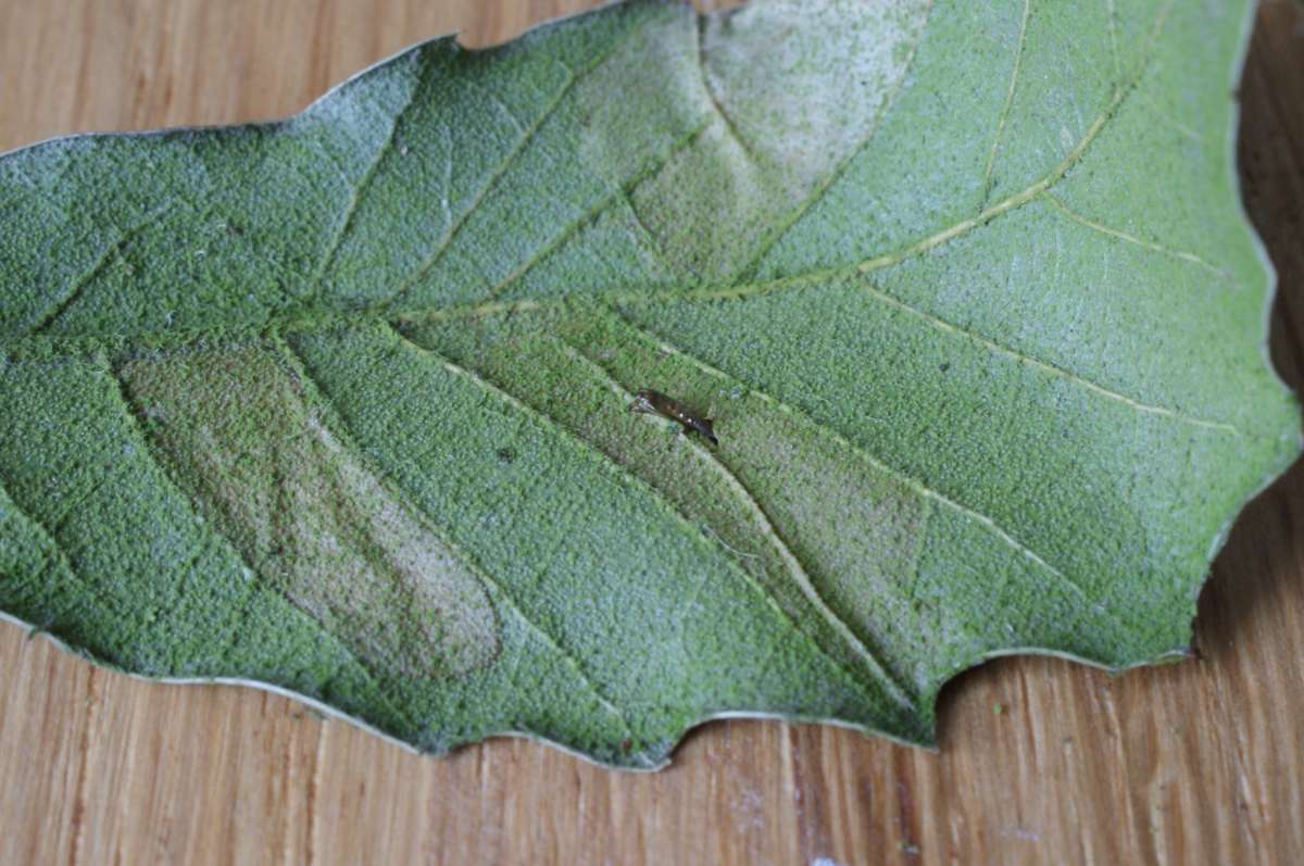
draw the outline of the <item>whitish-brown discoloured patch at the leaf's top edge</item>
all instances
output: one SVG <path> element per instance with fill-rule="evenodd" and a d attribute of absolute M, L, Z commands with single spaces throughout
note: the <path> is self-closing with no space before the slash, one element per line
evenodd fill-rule
<path fill-rule="evenodd" d="M 928 8 L 782 0 L 685 17 L 679 50 L 698 73 L 687 95 L 711 124 L 630 194 L 673 270 L 747 274 L 874 137 Z"/>

